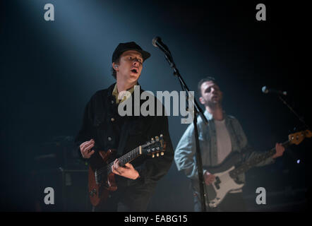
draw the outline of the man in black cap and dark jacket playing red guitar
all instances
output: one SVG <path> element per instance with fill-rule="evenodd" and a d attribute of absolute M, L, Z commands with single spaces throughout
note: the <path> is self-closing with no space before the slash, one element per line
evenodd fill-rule
<path fill-rule="evenodd" d="M 132 94 L 135 85 L 138 85 L 143 62 L 149 57 L 150 53 L 144 51 L 136 42 L 120 43 L 112 55 L 112 76 L 116 78 L 116 83 L 97 91 L 85 107 L 83 124 L 75 138 L 79 155 L 93 169 L 103 163 L 102 150 L 114 150 L 107 163 L 112 162 L 110 169 L 117 189 L 110 191 L 105 201 L 93 205 L 95 211 L 145 211 L 157 181 L 172 165 L 174 151 L 167 116 L 121 116 L 118 111 L 119 104 L 124 101 L 131 101 L 132 106 L 141 106 L 144 103 L 145 100 L 132 98 Z M 136 88 L 140 89 L 140 86 Z M 140 89 L 139 92 L 141 94 L 143 90 Z M 131 95 L 122 95 L 124 93 Z M 152 95 L 150 97 L 155 98 Z M 155 112 L 156 103 L 157 98 Z M 131 111 L 133 110 L 134 107 Z M 164 112 L 164 107 L 162 110 Z M 163 135 L 165 143 L 164 155 L 140 155 L 131 163 L 121 165 L 119 157 L 160 134 Z"/>

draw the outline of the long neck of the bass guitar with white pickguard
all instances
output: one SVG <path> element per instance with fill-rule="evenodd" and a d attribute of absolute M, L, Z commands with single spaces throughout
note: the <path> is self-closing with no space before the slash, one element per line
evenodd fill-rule
<path fill-rule="evenodd" d="M 284 148 L 287 148 L 289 145 L 292 145 L 290 141 L 285 141 L 282 143 Z M 269 157 L 272 157 L 275 155 L 276 149 L 272 148 L 266 153 L 263 153 L 262 155 L 258 155 L 257 157 L 254 157 L 251 160 L 248 160 L 247 162 L 244 162 L 244 164 L 240 165 L 239 167 L 233 169 L 231 172 L 229 172 L 229 175 L 232 178 L 236 178 L 239 174 L 246 172 L 248 169 L 251 169 L 252 167 L 258 165 L 260 162 L 263 162 L 264 160 L 268 159 Z"/>

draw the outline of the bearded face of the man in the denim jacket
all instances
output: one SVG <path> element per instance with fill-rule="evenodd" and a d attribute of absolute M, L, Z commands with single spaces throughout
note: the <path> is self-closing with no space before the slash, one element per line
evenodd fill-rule
<path fill-rule="evenodd" d="M 200 103 L 205 106 L 212 106 L 221 104 L 222 92 L 217 84 L 213 81 L 207 81 L 200 86 L 201 97 L 199 97 Z"/>

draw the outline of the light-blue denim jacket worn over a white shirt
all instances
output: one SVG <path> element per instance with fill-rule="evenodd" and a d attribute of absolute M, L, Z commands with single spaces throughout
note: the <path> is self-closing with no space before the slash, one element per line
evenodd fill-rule
<path fill-rule="evenodd" d="M 224 113 L 225 125 L 229 131 L 229 136 L 232 142 L 232 152 L 244 153 L 242 160 L 247 161 L 263 152 L 256 152 L 248 145 L 246 135 L 241 128 L 239 121 Z M 217 135 L 215 130 L 215 121 L 212 119 L 212 114 L 207 110 L 205 117 L 208 119 L 208 125 L 205 126 L 203 120 L 198 117 L 198 139 L 200 144 L 200 152 L 202 157 L 203 167 L 217 166 Z M 174 160 L 179 171 L 184 171 L 186 177 L 192 180 L 198 180 L 198 170 L 196 165 L 196 142 L 194 137 L 194 126 L 190 124 L 183 136 L 181 137 L 174 153 Z M 268 165 L 274 162 L 272 157 L 260 162 L 257 166 Z M 205 171 L 204 171 L 205 172 Z M 240 174 L 239 180 L 245 182 L 245 175 Z"/>

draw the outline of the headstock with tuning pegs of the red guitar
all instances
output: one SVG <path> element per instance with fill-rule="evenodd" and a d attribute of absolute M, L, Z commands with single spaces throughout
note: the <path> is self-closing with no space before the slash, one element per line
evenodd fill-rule
<path fill-rule="evenodd" d="M 142 153 L 145 155 L 152 155 L 152 157 L 159 157 L 164 155 L 164 137 L 162 134 L 160 136 L 155 136 L 150 141 L 146 142 L 145 145 L 141 145 Z"/>

